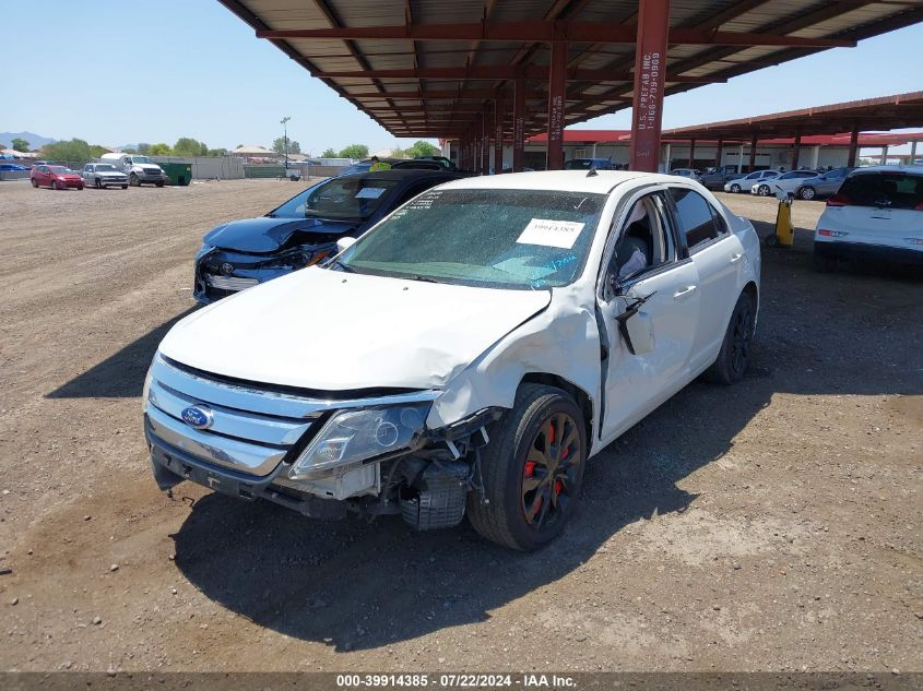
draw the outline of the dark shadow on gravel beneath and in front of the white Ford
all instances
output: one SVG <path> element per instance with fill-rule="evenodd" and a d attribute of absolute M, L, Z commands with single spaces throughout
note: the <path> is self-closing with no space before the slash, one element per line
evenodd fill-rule
<path fill-rule="evenodd" d="M 693 384 L 594 457 L 575 521 L 535 553 L 500 548 L 466 524 L 414 533 L 398 516 L 320 523 L 269 502 L 208 495 L 173 536 L 176 564 L 227 609 L 336 651 L 488 621 L 519 598 L 530 598 L 537 615 L 551 605 L 544 586 L 579 569 L 626 525 L 696 500 L 677 482 L 727 452 L 771 388 L 741 392 Z"/>

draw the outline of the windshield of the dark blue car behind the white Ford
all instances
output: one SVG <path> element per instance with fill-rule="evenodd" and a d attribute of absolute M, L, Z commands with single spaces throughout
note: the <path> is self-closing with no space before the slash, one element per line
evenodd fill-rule
<path fill-rule="evenodd" d="M 308 188 L 273 211 L 280 218 L 330 218 L 334 221 L 365 221 L 371 216 L 397 180 L 374 177 L 339 177 Z"/>

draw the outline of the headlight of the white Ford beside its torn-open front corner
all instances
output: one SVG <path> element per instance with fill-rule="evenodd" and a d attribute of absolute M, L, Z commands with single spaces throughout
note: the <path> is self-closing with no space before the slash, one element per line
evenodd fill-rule
<path fill-rule="evenodd" d="M 392 453 L 411 446 L 424 426 L 430 403 L 412 403 L 334 415 L 298 456 L 288 477 Z"/>

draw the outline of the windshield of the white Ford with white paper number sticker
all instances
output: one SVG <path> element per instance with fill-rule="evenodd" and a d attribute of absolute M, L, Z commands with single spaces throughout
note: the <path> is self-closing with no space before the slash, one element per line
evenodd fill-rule
<path fill-rule="evenodd" d="M 565 286 L 583 266 L 604 202 L 583 192 L 430 190 L 333 265 L 493 288 Z"/>

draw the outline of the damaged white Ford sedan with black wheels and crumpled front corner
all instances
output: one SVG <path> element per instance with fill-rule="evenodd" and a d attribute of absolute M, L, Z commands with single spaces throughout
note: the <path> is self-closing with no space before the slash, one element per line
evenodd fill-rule
<path fill-rule="evenodd" d="M 465 178 L 341 248 L 163 339 L 144 388 L 162 489 L 416 529 L 466 515 L 535 549 L 591 456 L 699 374 L 747 368 L 759 241 L 691 180 Z"/>

